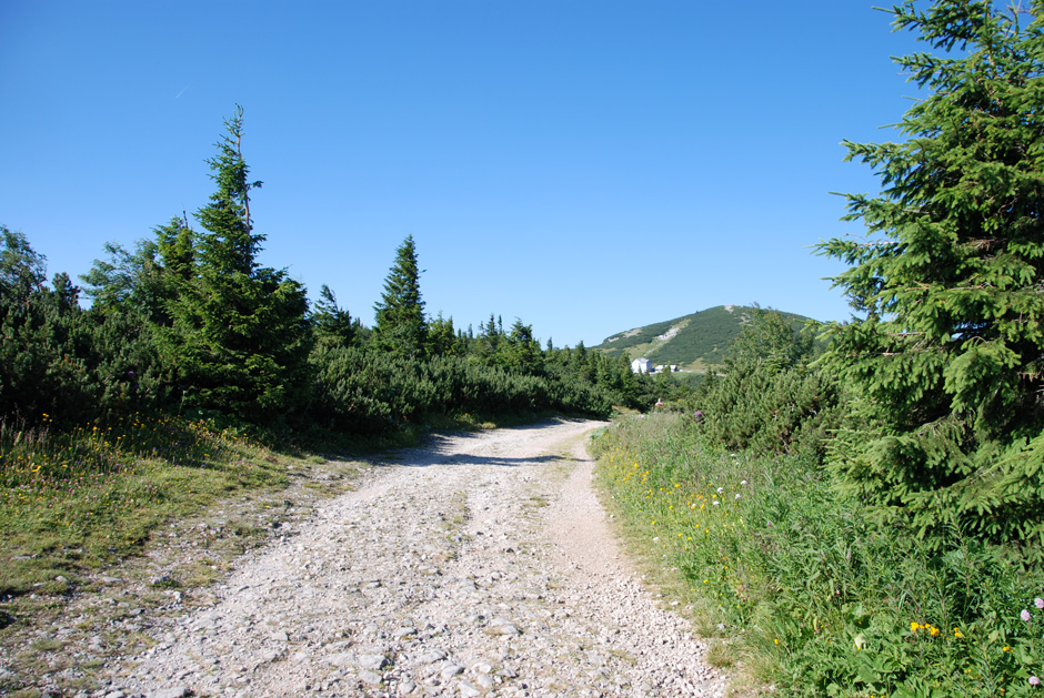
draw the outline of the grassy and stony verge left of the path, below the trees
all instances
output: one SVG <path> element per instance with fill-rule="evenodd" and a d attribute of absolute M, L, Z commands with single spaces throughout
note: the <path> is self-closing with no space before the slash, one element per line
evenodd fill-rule
<path fill-rule="evenodd" d="M 445 416 L 380 438 L 245 437 L 141 415 L 64 429 L 0 423 L 0 694 L 90 692 L 114 666 L 132 671 L 157 615 L 212 604 L 209 585 L 239 555 L 351 489 L 365 456 L 541 416 Z"/>

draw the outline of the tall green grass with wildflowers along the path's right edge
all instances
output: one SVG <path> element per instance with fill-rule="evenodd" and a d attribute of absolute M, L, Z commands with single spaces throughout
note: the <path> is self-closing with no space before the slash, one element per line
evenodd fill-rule
<path fill-rule="evenodd" d="M 1044 577 L 1004 549 L 954 532 L 930 554 L 865 524 L 815 463 L 709 448 L 677 415 L 621 419 L 595 452 L 630 534 L 732 631 L 716 655 L 752 686 L 1044 696 Z"/>

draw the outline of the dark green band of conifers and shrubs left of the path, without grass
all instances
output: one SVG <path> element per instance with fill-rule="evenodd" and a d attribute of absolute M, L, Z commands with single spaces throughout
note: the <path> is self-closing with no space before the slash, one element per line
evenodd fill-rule
<path fill-rule="evenodd" d="M 106 423 L 175 413 L 219 426 L 387 434 L 446 415 L 563 411 L 608 416 L 687 387 L 634 376 L 625 357 L 541 347 L 521 320 L 475 335 L 429 318 L 412 236 L 396 251 L 375 325 L 325 285 L 310 306 L 284 270 L 263 267 L 250 215 L 243 114 L 208 160 L 214 193 L 132 251 L 107 244 L 83 275 L 49 285 L 24 234 L 0 227 L 0 422 Z"/>

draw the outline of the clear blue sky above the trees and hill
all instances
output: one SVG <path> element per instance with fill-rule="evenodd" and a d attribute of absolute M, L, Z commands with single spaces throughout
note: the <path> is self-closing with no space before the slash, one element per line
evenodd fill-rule
<path fill-rule="evenodd" d="M 871 0 L 0 2 L 0 223 L 73 277 L 212 191 L 245 110 L 261 262 L 365 324 L 402 240 L 430 315 L 555 345 L 723 303 L 849 308 L 810 245 L 916 44 Z"/>

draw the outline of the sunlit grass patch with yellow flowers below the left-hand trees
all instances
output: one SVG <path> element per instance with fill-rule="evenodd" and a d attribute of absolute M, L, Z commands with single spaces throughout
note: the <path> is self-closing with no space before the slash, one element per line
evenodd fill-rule
<path fill-rule="evenodd" d="M 134 552 L 164 520 L 284 478 L 271 452 L 203 422 L 0 423 L 0 595 L 62 590 L 57 576 Z"/>

